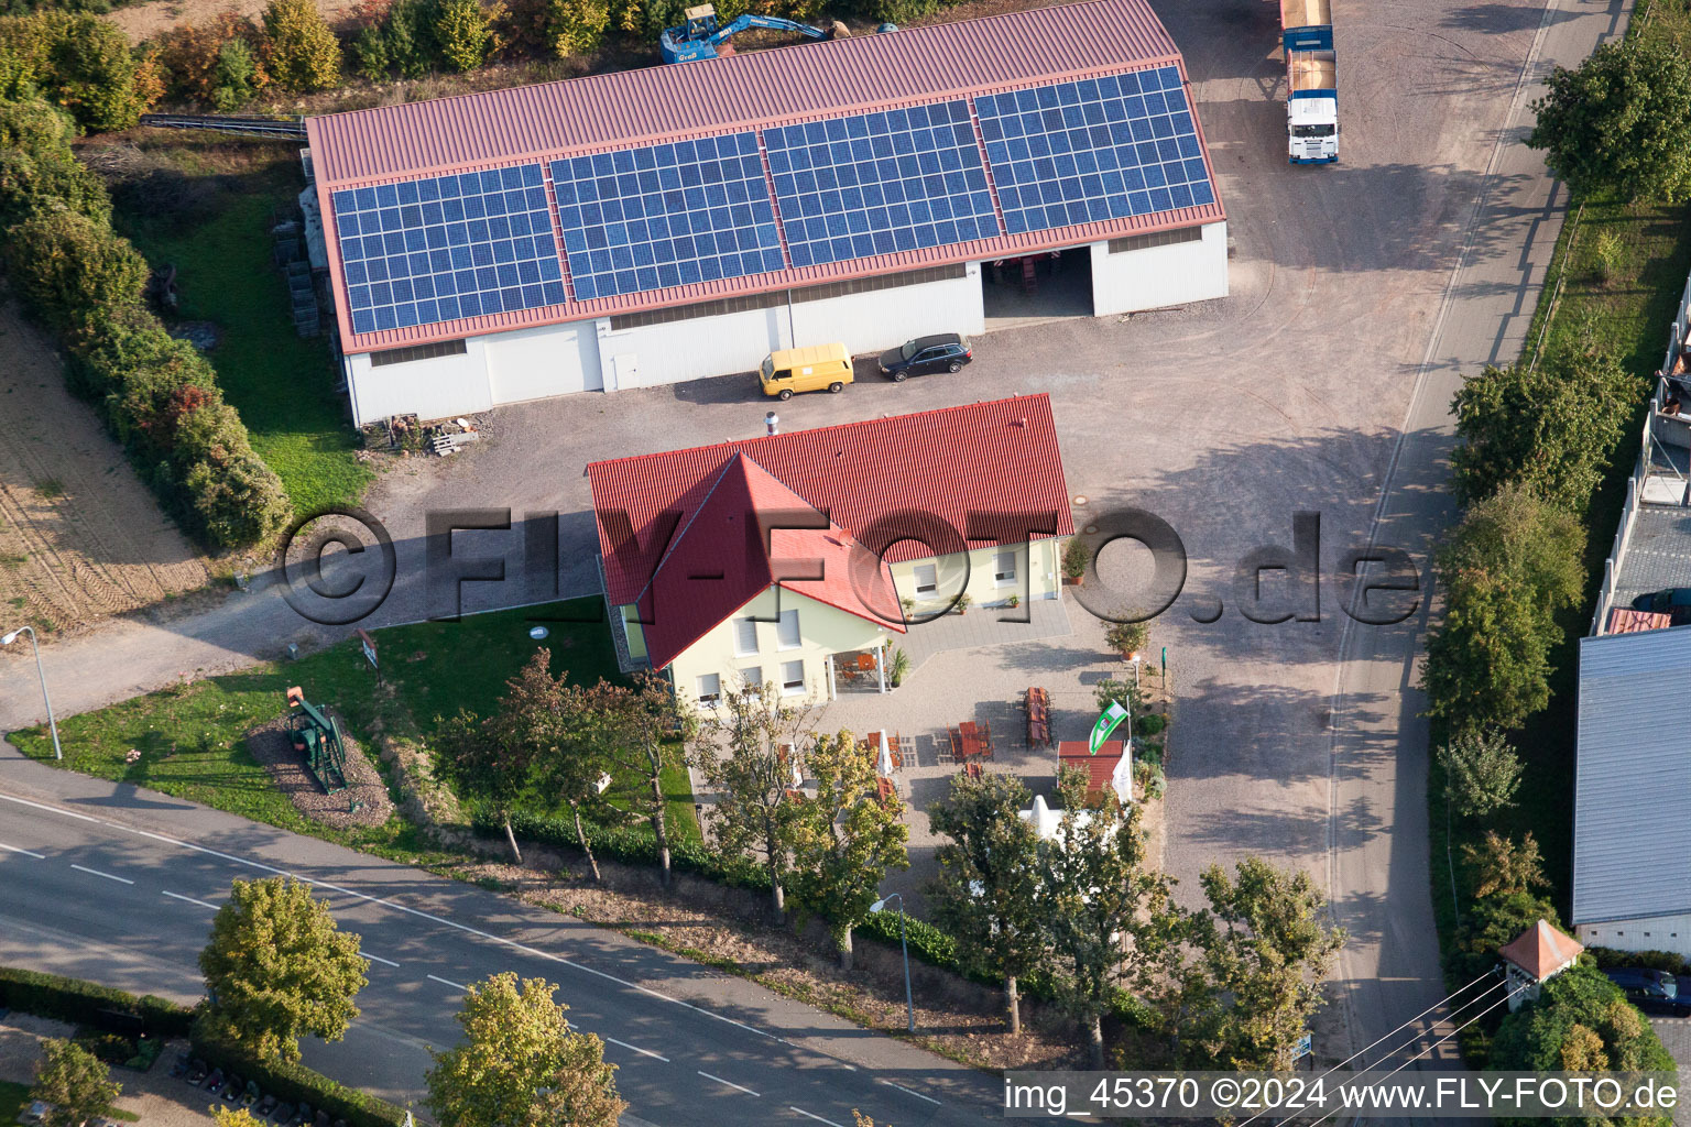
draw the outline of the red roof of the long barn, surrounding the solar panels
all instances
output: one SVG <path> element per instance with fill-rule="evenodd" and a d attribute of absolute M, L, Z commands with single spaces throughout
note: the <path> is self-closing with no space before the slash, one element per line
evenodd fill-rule
<path fill-rule="evenodd" d="M 656 47 L 653 47 L 656 56 Z M 352 333 L 333 191 L 470 169 L 553 161 L 565 155 L 714 137 L 840 113 L 932 103 L 977 93 L 1180 68 L 1180 54 L 1146 0 L 1087 0 L 1033 12 L 915 27 L 888 35 L 754 51 L 720 59 L 592 74 L 543 86 L 495 90 L 433 101 L 409 101 L 306 118 L 318 203 L 330 255 L 330 280 L 345 351 L 397 348 L 431 340 L 578 321 L 773 292 L 873 274 L 955 262 L 979 262 L 1075 247 L 1226 218 L 1216 203 L 1175 211 L 1003 235 L 927 250 L 849 259 L 663 291 L 462 318 L 436 324 Z M 1209 167 L 1209 150 L 1199 147 Z M 1211 169 L 1211 184 L 1214 172 Z"/>

